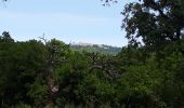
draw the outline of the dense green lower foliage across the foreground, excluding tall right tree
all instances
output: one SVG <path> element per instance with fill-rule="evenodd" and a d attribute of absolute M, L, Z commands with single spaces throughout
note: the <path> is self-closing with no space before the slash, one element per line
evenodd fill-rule
<path fill-rule="evenodd" d="M 122 48 L 117 56 L 110 56 L 73 51 L 57 40 L 15 42 L 4 32 L 0 39 L 2 108 L 47 106 L 50 97 L 48 55 L 53 52 L 48 48 L 51 43 L 61 48 L 54 58 L 65 59 L 53 65 L 52 79 L 58 85 L 52 97 L 54 107 L 184 106 L 184 55 L 175 50 L 179 48 L 175 42 L 168 44 L 159 56 L 156 52 L 145 52 L 145 48 L 131 45 Z M 90 72 L 94 65 L 108 65 L 106 68 L 116 69 L 120 77 L 111 77 L 97 68 Z"/>

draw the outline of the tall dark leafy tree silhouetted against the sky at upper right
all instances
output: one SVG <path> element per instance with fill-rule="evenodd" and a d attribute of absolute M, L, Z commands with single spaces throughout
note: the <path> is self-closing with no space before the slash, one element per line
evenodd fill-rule
<path fill-rule="evenodd" d="M 183 0 L 139 0 L 128 3 L 122 12 L 122 28 L 129 43 L 159 49 L 162 44 L 182 39 L 184 28 Z"/>

